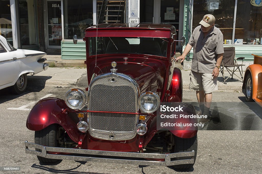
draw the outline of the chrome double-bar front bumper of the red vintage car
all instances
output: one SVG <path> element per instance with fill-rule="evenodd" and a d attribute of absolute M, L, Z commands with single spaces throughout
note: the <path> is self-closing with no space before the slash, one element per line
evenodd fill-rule
<path fill-rule="evenodd" d="M 31 150 L 28 148 L 41 149 L 42 152 Z M 48 151 L 72 153 L 72 154 L 70 155 L 48 154 Z M 42 156 L 45 158 L 51 158 L 51 159 L 107 162 L 107 163 L 117 163 L 117 164 L 146 165 L 146 166 L 151 166 L 151 165 L 172 166 L 172 165 L 179 165 L 179 164 L 194 164 L 194 159 L 171 161 L 171 158 L 186 157 L 186 156 L 193 158 L 195 155 L 194 150 L 192 150 L 191 152 L 179 152 L 179 153 L 171 153 L 171 154 L 150 154 L 150 153 L 134 153 L 134 152 L 117 152 L 117 151 L 101 151 L 101 150 L 47 147 L 47 146 L 42 146 L 42 145 L 35 144 L 35 143 L 29 143 L 27 141 L 25 141 L 25 153 L 38 155 L 38 156 Z M 78 156 L 78 154 L 82 154 L 82 155 Z M 87 156 L 83 156 L 83 154 Z M 101 155 L 101 157 L 91 157 L 88 155 Z M 132 158 L 132 159 L 122 159 L 119 157 Z M 165 161 L 147 161 L 144 158 L 165 159 Z"/>

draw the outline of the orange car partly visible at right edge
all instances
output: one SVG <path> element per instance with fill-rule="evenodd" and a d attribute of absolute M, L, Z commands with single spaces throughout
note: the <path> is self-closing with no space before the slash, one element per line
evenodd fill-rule
<path fill-rule="evenodd" d="M 254 55 L 254 64 L 245 71 L 242 86 L 247 102 L 256 102 L 262 107 L 262 57 Z"/>

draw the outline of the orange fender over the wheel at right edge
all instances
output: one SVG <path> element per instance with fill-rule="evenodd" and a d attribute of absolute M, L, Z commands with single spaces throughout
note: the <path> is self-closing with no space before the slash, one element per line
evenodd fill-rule
<path fill-rule="evenodd" d="M 242 89 L 245 89 L 245 81 L 247 80 L 247 75 L 251 74 L 252 77 L 252 98 L 257 98 L 257 92 L 259 90 L 259 86 L 262 85 L 262 65 L 253 64 L 249 65 L 245 70 L 244 82 Z"/>

